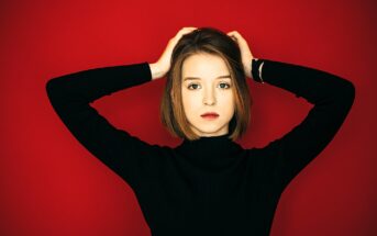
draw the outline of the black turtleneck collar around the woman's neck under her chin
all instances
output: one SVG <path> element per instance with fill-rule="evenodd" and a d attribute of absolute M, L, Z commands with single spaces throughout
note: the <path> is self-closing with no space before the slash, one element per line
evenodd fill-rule
<path fill-rule="evenodd" d="M 224 134 L 210 137 L 202 136 L 196 141 L 184 139 L 176 150 L 187 158 L 215 160 L 239 156 L 242 147 L 229 138 L 229 134 Z"/>

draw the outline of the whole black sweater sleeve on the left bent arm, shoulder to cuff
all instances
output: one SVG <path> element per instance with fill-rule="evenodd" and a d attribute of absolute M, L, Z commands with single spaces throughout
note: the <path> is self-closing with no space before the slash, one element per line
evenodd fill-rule
<path fill-rule="evenodd" d="M 49 102 L 70 133 L 131 187 L 156 145 L 112 126 L 90 103 L 151 80 L 149 65 L 140 63 L 78 71 L 46 83 Z"/>

